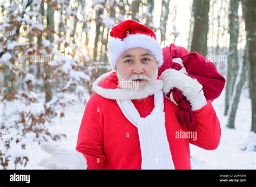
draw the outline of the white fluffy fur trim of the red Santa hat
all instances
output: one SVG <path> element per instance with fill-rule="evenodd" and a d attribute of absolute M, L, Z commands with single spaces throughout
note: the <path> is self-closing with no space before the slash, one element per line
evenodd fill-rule
<path fill-rule="evenodd" d="M 146 34 L 130 34 L 123 39 L 112 38 L 107 44 L 110 51 L 110 65 L 116 69 L 117 60 L 128 49 L 142 47 L 148 49 L 157 59 L 158 67 L 163 64 L 163 52 L 156 39 Z"/>

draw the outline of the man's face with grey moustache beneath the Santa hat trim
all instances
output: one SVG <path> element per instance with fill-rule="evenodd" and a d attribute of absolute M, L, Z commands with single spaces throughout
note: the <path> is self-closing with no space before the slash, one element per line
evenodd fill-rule
<path fill-rule="evenodd" d="M 135 81 L 143 86 L 156 81 L 157 71 L 156 58 L 144 48 L 130 48 L 117 60 L 119 81 Z"/>

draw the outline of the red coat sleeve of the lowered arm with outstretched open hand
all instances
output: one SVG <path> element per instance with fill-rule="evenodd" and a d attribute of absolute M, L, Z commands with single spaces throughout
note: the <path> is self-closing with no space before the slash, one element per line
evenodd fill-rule
<path fill-rule="evenodd" d="M 85 156 L 87 169 L 102 169 L 106 160 L 103 152 L 103 124 L 99 121 L 97 111 L 92 108 L 89 100 L 80 125 L 76 150 Z"/>

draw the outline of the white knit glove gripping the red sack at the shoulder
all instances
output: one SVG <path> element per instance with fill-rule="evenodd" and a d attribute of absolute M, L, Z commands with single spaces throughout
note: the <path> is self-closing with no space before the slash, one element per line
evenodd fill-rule
<path fill-rule="evenodd" d="M 207 104 L 203 86 L 196 80 L 175 69 L 166 69 L 160 76 L 164 82 L 165 94 L 173 88 L 179 89 L 190 102 L 192 110 L 201 109 Z"/>

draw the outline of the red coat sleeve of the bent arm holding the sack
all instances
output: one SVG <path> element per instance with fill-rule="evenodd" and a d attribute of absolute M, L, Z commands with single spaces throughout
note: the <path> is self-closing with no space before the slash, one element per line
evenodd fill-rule
<path fill-rule="evenodd" d="M 220 123 L 210 101 L 199 110 L 193 111 L 197 125 L 188 128 L 188 131 L 197 132 L 196 138 L 191 138 L 190 143 L 206 150 L 213 150 L 219 146 Z"/>

